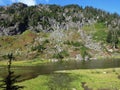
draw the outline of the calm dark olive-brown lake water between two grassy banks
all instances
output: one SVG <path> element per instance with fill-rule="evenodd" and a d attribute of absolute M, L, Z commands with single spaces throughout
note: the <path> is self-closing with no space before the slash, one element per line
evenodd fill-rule
<path fill-rule="evenodd" d="M 21 80 L 35 78 L 38 75 L 52 74 L 57 70 L 75 70 L 75 69 L 105 69 L 120 67 L 120 59 L 114 60 L 90 60 L 90 61 L 65 61 L 56 63 L 47 63 L 38 66 L 14 66 L 12 71 L 16 75 L 21 75 Z M 6 77 L 7 67 L 0 67 L 0 77 Z"/>

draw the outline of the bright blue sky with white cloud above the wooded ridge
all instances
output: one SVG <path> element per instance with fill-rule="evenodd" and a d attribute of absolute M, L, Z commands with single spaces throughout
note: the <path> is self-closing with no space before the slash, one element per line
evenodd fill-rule
<path fill-rule="evenodd" d="M 120 15 L 120 0 L 0 0 L 0 6 L 11 5 L 15 2 L 22 2 L 28 6 L 37 4 L 57 4 L 60 6 L 78 4 L 83 7 L 92 6 Z"/>

